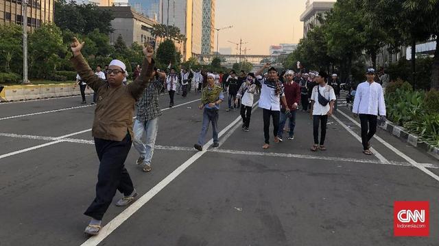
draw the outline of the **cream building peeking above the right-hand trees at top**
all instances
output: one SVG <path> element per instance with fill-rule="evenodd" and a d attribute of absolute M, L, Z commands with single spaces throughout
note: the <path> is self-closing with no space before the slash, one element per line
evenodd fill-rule
<path fill-rule="evenodd" d="M 307 37 L 308 31 L 320 25 L 317 16 L 325 16 L 325 13 L 333 8 L 335 1 L 313 1 L 307 0 L 305 12 L 300 15 L 300 21 L 303 21 L 303 38 Z"/>

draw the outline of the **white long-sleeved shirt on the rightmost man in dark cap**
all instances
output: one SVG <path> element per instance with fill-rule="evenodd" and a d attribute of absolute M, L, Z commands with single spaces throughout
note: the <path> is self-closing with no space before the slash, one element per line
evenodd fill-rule
<path fill-rule="evenodd" d="M 383 87 L 377 82 L 360 83 L 355 92 L 353 113 L 385 116 Z"/>

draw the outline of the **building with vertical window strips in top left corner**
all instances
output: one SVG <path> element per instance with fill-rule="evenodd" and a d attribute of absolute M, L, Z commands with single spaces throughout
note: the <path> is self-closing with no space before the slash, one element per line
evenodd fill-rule
<path fill-rule="evenodd" d="M 0 0 L 0 25 L 22 25 L 21 0 Z M 54 22 L 54 0 L 29 0 L 27 2 L 27 27 L 29 31 L 42 23 Z"/>

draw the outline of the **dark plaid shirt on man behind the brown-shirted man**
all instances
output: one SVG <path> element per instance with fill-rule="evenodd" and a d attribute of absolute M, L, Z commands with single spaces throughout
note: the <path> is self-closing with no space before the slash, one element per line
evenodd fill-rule
<path fill-rule="evenodd" d="M 154 79 L 154 81 L 145 88 L 141 98 L 136 102 L 137 120 L 145 122 L 162 115 L 160 107 L 158 106 L 158 94 L 160 94 L 161 87 L 162 83 L 160 79 Z"/>

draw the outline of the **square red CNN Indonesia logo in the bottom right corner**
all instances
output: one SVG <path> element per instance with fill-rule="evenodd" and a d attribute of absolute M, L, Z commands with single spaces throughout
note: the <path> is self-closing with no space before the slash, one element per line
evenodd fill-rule
<path fill-rule="evenodd" d="M 429 202 L 394 202 L 394 236 L 429 236 Z"/>

